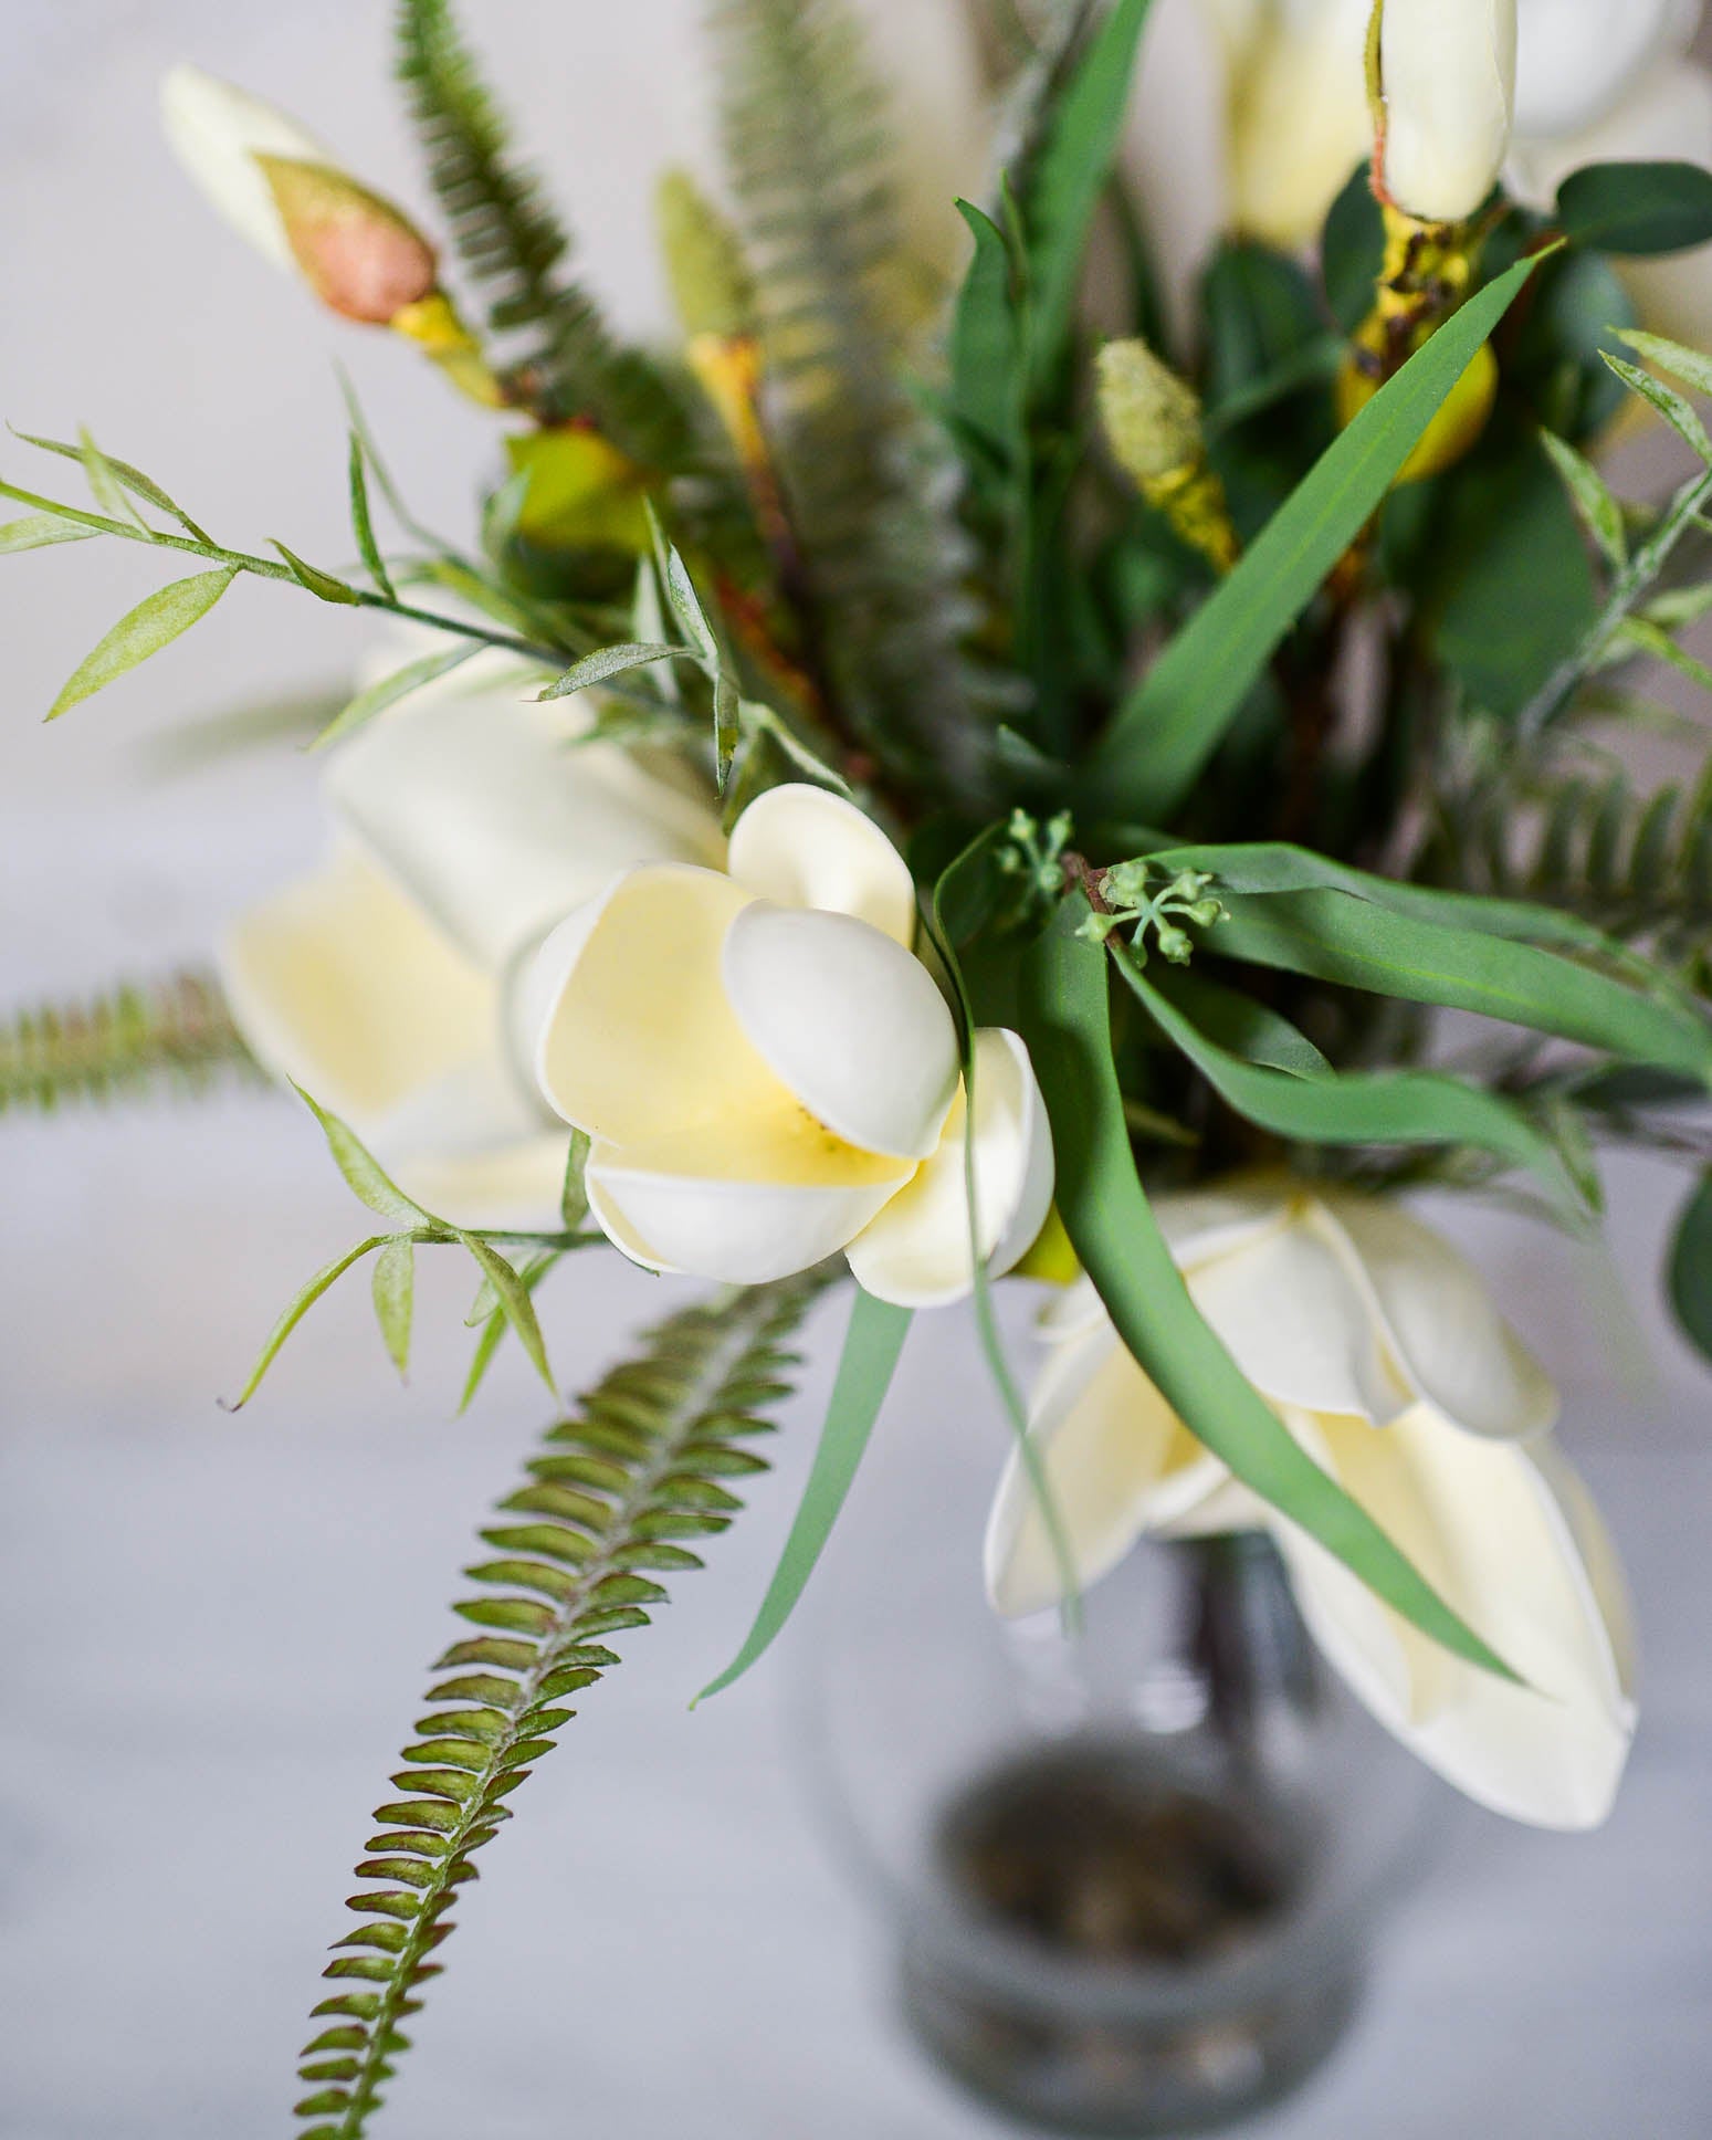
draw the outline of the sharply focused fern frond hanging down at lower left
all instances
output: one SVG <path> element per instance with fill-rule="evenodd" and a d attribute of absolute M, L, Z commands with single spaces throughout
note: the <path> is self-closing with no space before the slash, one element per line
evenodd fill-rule
<path fill-rule="evenodd" d="M 576 1714 L 565 1699 L 618 1663 L 608 1637 L 648 1624 L 666 1603 L 655 1577 L 700 1566 L 683 1541 L 725 1530 L 740 1507 L 732 1485 L 766 1470 L 747 1444 L 790 1393 L 783 1346 L 820 1284 L 758 1286 L 661 1323 L 640 1359 L 548 1430 L 529 1483 L 482 1532 L 494 1558 L 467 1571 L 482 1590 L 456 1607 L 475 1633 L 437 1665 L 452 1678 L 428 1691 L 430 1714 L 392 1778 L 402 1795 L 374 1815 L 357 1866 L 370 1885 L 349 1905 L 362 1926 L 338 1941 L 338 1988 L 315 2007 L 300 2140 L 357 2140 L 381 2108 L 458 1887 Z"/>

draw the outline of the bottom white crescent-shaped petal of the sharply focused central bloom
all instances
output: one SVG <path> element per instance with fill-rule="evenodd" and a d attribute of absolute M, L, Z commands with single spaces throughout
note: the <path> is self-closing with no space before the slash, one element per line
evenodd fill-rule
<path fill-rule="evenodd" d="M 638 1263 L 762 1286 L 835 1256 L 895 1194 L 886 1181 L 730 1181 L 653 1173 L 597 1145 L 588 1209 Z"/>

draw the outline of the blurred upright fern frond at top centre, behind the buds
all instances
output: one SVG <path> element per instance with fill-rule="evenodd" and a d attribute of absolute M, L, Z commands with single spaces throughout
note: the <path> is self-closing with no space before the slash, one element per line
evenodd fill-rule
<path fill-rule="evenodd" d="M 967 785 L 967 550 L 903 385 L 884 94 L 839 0 L 710 0 L 708 21 L 815 663 L 895 773 Z"/>

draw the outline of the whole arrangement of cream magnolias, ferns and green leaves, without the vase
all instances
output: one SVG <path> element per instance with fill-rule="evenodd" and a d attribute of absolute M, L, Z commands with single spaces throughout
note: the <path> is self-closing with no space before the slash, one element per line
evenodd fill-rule
<path fill-rule="evenodd" d="M 17 1023 L 6 1098 L 297 1087 L 372 1220 L 244 1397 L 362 1263 L 402 1370 L 426 1248 L 475 1265 L 467 1400 L 507 1338 L 554 1387 L 584 1250 L 719 1288 L 556 1417 L 482 1532 L 315 2009 L 304 2140 L 368 2129 L 473 1855 L 738 1513 L 830 1286 L 811 1483 L 715 1684 L 802 1590 L 912 1316 L 969 1299 L 1017 1427 L 999 1611 L 1074 1605 L 1143 1532 L 1265 1526 L 1425 1761 L 1524 1821 L 1611 1804 L 1614 1549 L 1543 1370 L 1402 1198 L 1590 1226 L 1596 1147 L 1712 1158 L 1712 768 L 1635 794 L 1609 745 L 1644 659 L 1712 685 L 1676 642 L 1712 606 L 1680 392 L 1712 360 L 1637 312 L 1712 242 L 1712 173 L 1566 146 L 1603 150 L 1594 107 L 1682 11 L 1631 11 L 1618 66 L 1524 0 L 1519 75 L 1517 0 L 1209 13 L 1239 225 L 1188 332 L 1149 244 L 1171 203 L 1124 175 L 1147 0 L 1012 21 L 982 199 L 931 233 L 860 17 L 717 0 L 725 188 L 661 184 L 666 353 L 567 274 L 445 0 L 400 6 L 400 79 L 482 319 L 293 120 L 167 81 L 214 205 L 492 409 L 507 473 L 445 541 L 353 404 L 330 567 L 216 541 L 88 434 L 32 441 L 92 505 L 0 484 L 0 548 L 197 561 L 54 715 L 240 578 L 398 638 L 317 738 L 321 865 L 233 924 L 218 982 Z M 1556 133 L 1513 152 L 1517 111 Z M 1695 460 L 1665 503 L 1594 467 L 1629 407 Z M 1470 1014 L 1453 1040 L 1438 1010 Z M 1029 1404 L 1008 1273 L 1051 1288 Z M 1669 1284 L 1712 1350 L 1706 1175 Z"/>

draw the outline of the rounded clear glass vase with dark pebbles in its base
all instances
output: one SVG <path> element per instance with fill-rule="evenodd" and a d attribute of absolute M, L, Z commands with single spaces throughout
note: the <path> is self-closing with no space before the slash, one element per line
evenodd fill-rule
<path fill-rule="evenodd" d="M 1278 2101 L 1348 2029 L 1440 1787 L 1320 1667 L 1265 1537 L 1143 1543 L 1081 1624 L 1004 1624 L 942 1487 L 852 1522 L 796 1686 L 910 2033 L 1036 2129 Z"/>

